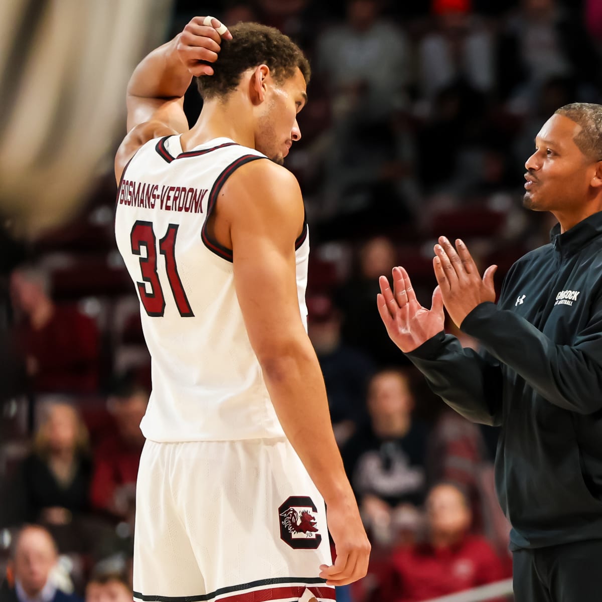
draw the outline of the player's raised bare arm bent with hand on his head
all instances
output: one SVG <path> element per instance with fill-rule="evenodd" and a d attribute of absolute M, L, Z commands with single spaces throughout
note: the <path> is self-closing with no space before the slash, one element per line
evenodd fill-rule
<path fill-rule="evenodd" d="M 128 134 L 115 157 L 117 184 L 135 152 L 149 140 L 188 131 L 184 94 L 193 76 L 212 75 L 222 36 L 216 28 L 203 25 L 205 17 L 194 17 L 173 40 L 147 55 L 128 83 Z M 217 19 L 214 25 L 220 26 Z"/>

